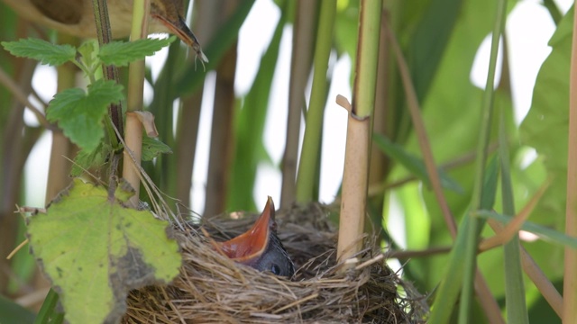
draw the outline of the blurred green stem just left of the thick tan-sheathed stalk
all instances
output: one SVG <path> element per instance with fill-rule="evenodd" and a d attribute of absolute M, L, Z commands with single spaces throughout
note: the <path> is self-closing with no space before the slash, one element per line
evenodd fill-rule
<path fill-rule="evenodd" d="M 316 162 L 320 156 L 320 137 L 325 112 L 326 70 L 333 45 L 336 0 L 321 2 L 314 58 L 313 86 L 307 112 L 307 128 L 300 154 L 297 175 L 297 202 L 306 203 L 313 199 Z"/>

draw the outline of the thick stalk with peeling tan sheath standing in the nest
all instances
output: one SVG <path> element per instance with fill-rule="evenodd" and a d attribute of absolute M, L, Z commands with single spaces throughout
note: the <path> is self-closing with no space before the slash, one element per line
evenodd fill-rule
<path fill-rule="evenodd" d="M 344 153 L 343 193 L 339 220 L 337 259 L 343 261 L 362 249 L 367 204 L 371 115 L 374 111 L 379 63 L 382 1 L 363 0 L 359 16 L 353 106 L 349 111 Z"/>

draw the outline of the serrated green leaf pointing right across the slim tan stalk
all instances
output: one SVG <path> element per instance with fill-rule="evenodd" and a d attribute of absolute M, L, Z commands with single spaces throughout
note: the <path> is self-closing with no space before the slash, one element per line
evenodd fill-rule
<path fill-rule="evenodd" d="M 175 37 L 168 39 L 145 39 L 134 41 L 111 41 L 103 45 L 98 58 L 107 65 L 125 67 L 133 61 L 143 59 L 168 46 Z"/>

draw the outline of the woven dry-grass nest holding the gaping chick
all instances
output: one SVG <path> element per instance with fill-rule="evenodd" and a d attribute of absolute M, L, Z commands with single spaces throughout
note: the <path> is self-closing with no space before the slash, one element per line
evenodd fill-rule
<path fill-rule="evenodd" d="M 279 238 L 298 269 L 292 280 L 235 264 L 215 252 L 197 225 L 175 230 L 180 275 L 167 286 L 130 293 L 123 322 L 423 322 L 422 298 L 384 264 L 378 247 L 370 244 L 352 270 L 337 273 L 336 233 L 326 215 L 319 204 L 277 212 Z M 257 216 L 220 216 L 203 226 L 216 240 L 228 239 L 249 229 Z"/>

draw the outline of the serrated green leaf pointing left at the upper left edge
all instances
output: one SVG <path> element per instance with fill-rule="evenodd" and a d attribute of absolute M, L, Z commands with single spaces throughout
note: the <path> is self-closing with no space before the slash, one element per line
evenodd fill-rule
<path fill-rule="evenodd" d="M 36 59 L 42 64 L 50 66 L 60 66 L 70 60 L 74 60 L 76 56 L 74 47 L 70 45 L 55 45 L 46 40 L 3 41 L 1 44 L 16 57 Z"/>

